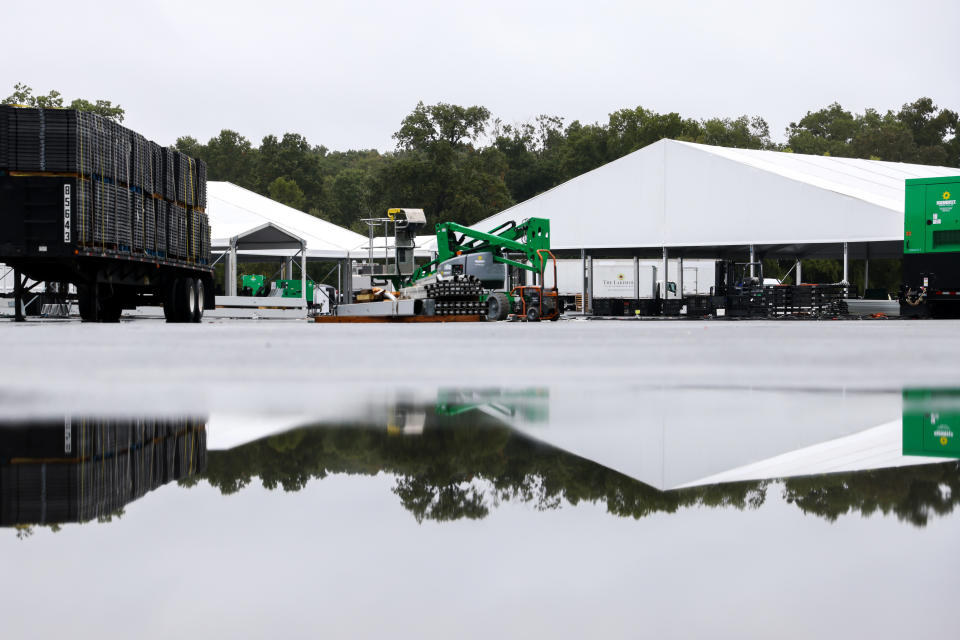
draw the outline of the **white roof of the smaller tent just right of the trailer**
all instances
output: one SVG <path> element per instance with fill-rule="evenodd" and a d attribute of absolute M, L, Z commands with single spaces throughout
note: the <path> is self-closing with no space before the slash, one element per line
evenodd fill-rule
<path fill-rule="evenodd" d="M 268 222 L 302 238 L 307 244 L 308 258 L 343 259 L 349 255 L 351 249 L 365 246 L 367 242 L 359 233 L 297 211 L 230 182 L 207 183 L 207 214 L 210 216 L 214 250 L 229 248 L 231 238 Z M 241 253 L 290 257 L 298 251 L 277 248 Z"/>

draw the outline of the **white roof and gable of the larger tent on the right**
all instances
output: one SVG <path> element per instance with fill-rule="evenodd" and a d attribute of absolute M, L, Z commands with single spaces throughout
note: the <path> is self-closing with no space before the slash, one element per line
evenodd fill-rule
<path fill-rule="evenodd" d="M 879 243 L 871 244 L 879 257 L 903 240 L 904 180 L 957 174 L 661 140 L 475 228 L 536 216 L 550 219 L 557 250 L 666 247 L 694 255 L 755 245 L 770 255 L 813 255 L 822 245 L 836 252 L 843 243 Z"/>

